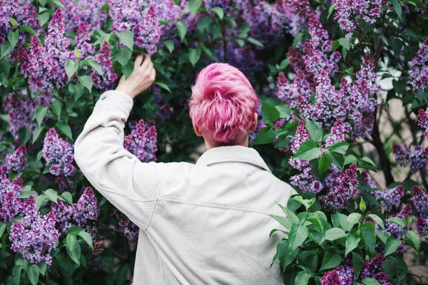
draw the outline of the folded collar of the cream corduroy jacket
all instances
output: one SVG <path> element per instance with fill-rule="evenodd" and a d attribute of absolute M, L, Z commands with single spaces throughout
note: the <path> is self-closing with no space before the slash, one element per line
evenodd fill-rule
<path fill-rule="evenodd" d="M 243 147 L 242 145 L 213 147 L 199 157 L 196 165 L 208 166 L 222 162 L 246 162 L 272 173 L 257 150 L 251 147 Z"/>

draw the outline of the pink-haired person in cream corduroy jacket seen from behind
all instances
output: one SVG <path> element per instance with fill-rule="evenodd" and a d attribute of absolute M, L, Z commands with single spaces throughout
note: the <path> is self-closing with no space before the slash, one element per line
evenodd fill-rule
<path fill-rule="evenodd" d="M 198 74 L 190 118 L 207 151 L 198 162 L 143 163 L 123 147 L 133 98 L 156 77 L 140 55 L 127 79 L 103 93 L 76 140 L 89 182 L 140 227 L 134 284 L 282 284 L 270 267 L 280 235 L 268 238 L 295 190 L 248 147 L 258 96 L 226 63 Z M 278 211 L 279 210 L 279 211 Z"/>

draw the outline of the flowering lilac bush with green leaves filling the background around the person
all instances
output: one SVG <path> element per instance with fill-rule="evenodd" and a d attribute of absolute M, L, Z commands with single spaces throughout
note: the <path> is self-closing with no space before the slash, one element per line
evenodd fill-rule
<path fill-rule="evenodd" d="M 125 147 L 143 162 L 198 157 L 200 68 L 250 78 L 250 142 L 300 193 L 272 217 L 286 284 L 426 283 L 407 271 L 428 254 L 427 4 L 0 1 L 0 283 L 130 281 L 138 227 L 91 189 L 73 140 L 141 52 L 158 76 Z"/>

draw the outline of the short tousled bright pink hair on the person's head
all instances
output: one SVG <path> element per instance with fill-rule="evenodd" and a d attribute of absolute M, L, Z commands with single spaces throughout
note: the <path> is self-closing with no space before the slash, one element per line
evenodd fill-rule
<path fill-rule="evenodd" d="M 248 135 L 259 101 L 250 81 L 228 63 L 211 63 L 196 76 L 190 118 L 204 138 L 234 145 Z"/>

